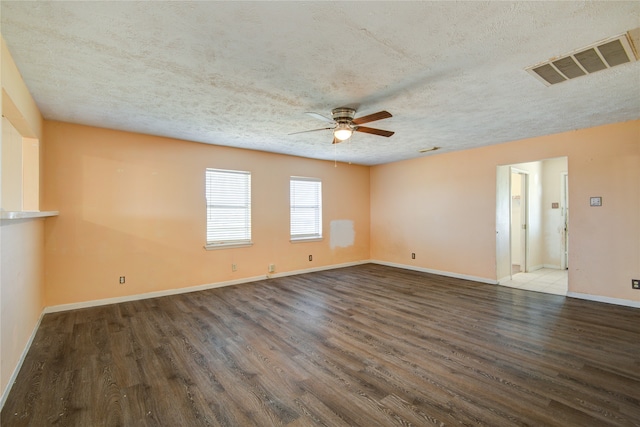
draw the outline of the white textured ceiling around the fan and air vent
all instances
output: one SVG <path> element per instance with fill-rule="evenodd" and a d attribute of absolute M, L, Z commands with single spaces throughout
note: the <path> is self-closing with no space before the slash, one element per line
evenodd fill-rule
<path fill-rule="evenodd" d="M 524 70 L 640 26 L 636 1 L 0 4 L 50 120 L 374 165 L 640 118 L 640 62 Z M 340 106 L 395 135 L 288 135 Z"/>

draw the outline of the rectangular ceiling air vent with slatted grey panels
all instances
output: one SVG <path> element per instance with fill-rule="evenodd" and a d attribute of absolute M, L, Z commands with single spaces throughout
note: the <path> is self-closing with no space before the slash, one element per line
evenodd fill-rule
<path fill-rule="evenodd" d="M 616 65 L 635 62 L 638 58 L 634 49 L 637 47 L 634 46 L 637 40 L 634 39 L 637 39 L 639 30 L 636 28 L 526 70 L 545 85 L 551 86 Z"/>

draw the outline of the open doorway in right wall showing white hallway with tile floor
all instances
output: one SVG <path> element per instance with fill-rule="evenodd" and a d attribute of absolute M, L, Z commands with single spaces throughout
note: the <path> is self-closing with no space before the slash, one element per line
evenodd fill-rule
<path fill-rule="evenodd" d="M 501 165 L 496 171 L 496 279 L 500 285 L 566 295 L 568 159 Z"/>

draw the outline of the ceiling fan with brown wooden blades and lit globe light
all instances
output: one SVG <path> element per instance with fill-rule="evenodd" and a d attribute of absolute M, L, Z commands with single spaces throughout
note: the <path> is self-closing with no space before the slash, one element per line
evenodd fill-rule
<path fill-rule="evenodd" d="M 382 129 L 374 129 L 366 126 L 360 126 L 364 123 L 374 122 L 376 120 L 388 119 L 391 116 L 391 113 L 388 111 L 378 111 L 377 113 L 369 114 L 368 116 L 354 118 L 356 114 L 356 110 L 353 108 L 340 107 L 334 108 L 331 110 L 331 119 L 329 117 L 325 117 L 322 114 L 318 113 L 306 113 L 311 117 L 315 117 L 316 119 L 322 120 L 324 122 L 331 123 L 332 126 L 320 129 L 311 129 L 311 130 L 303 130 L 301 132 L 293 132 L 289 135 L 295 135 L 298 133 L 305 132 L 316 132 L 320 130 L 333 130 L 333 143 L 337 144 L 344 140 L 347 140 L 351 137 L 353 132 L 364 132 L 370 133 L 372 135 L 386 136 L 390 137 L 394 134 L 394 132 Z"/>

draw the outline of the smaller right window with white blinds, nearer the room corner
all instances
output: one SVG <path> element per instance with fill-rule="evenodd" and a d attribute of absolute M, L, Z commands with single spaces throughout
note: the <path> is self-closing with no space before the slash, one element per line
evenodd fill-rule
<path fill-rule="evenodd" d="M 322 238 L 322 182 L 315 178 L 291 177 L 291 240 Z"/>

